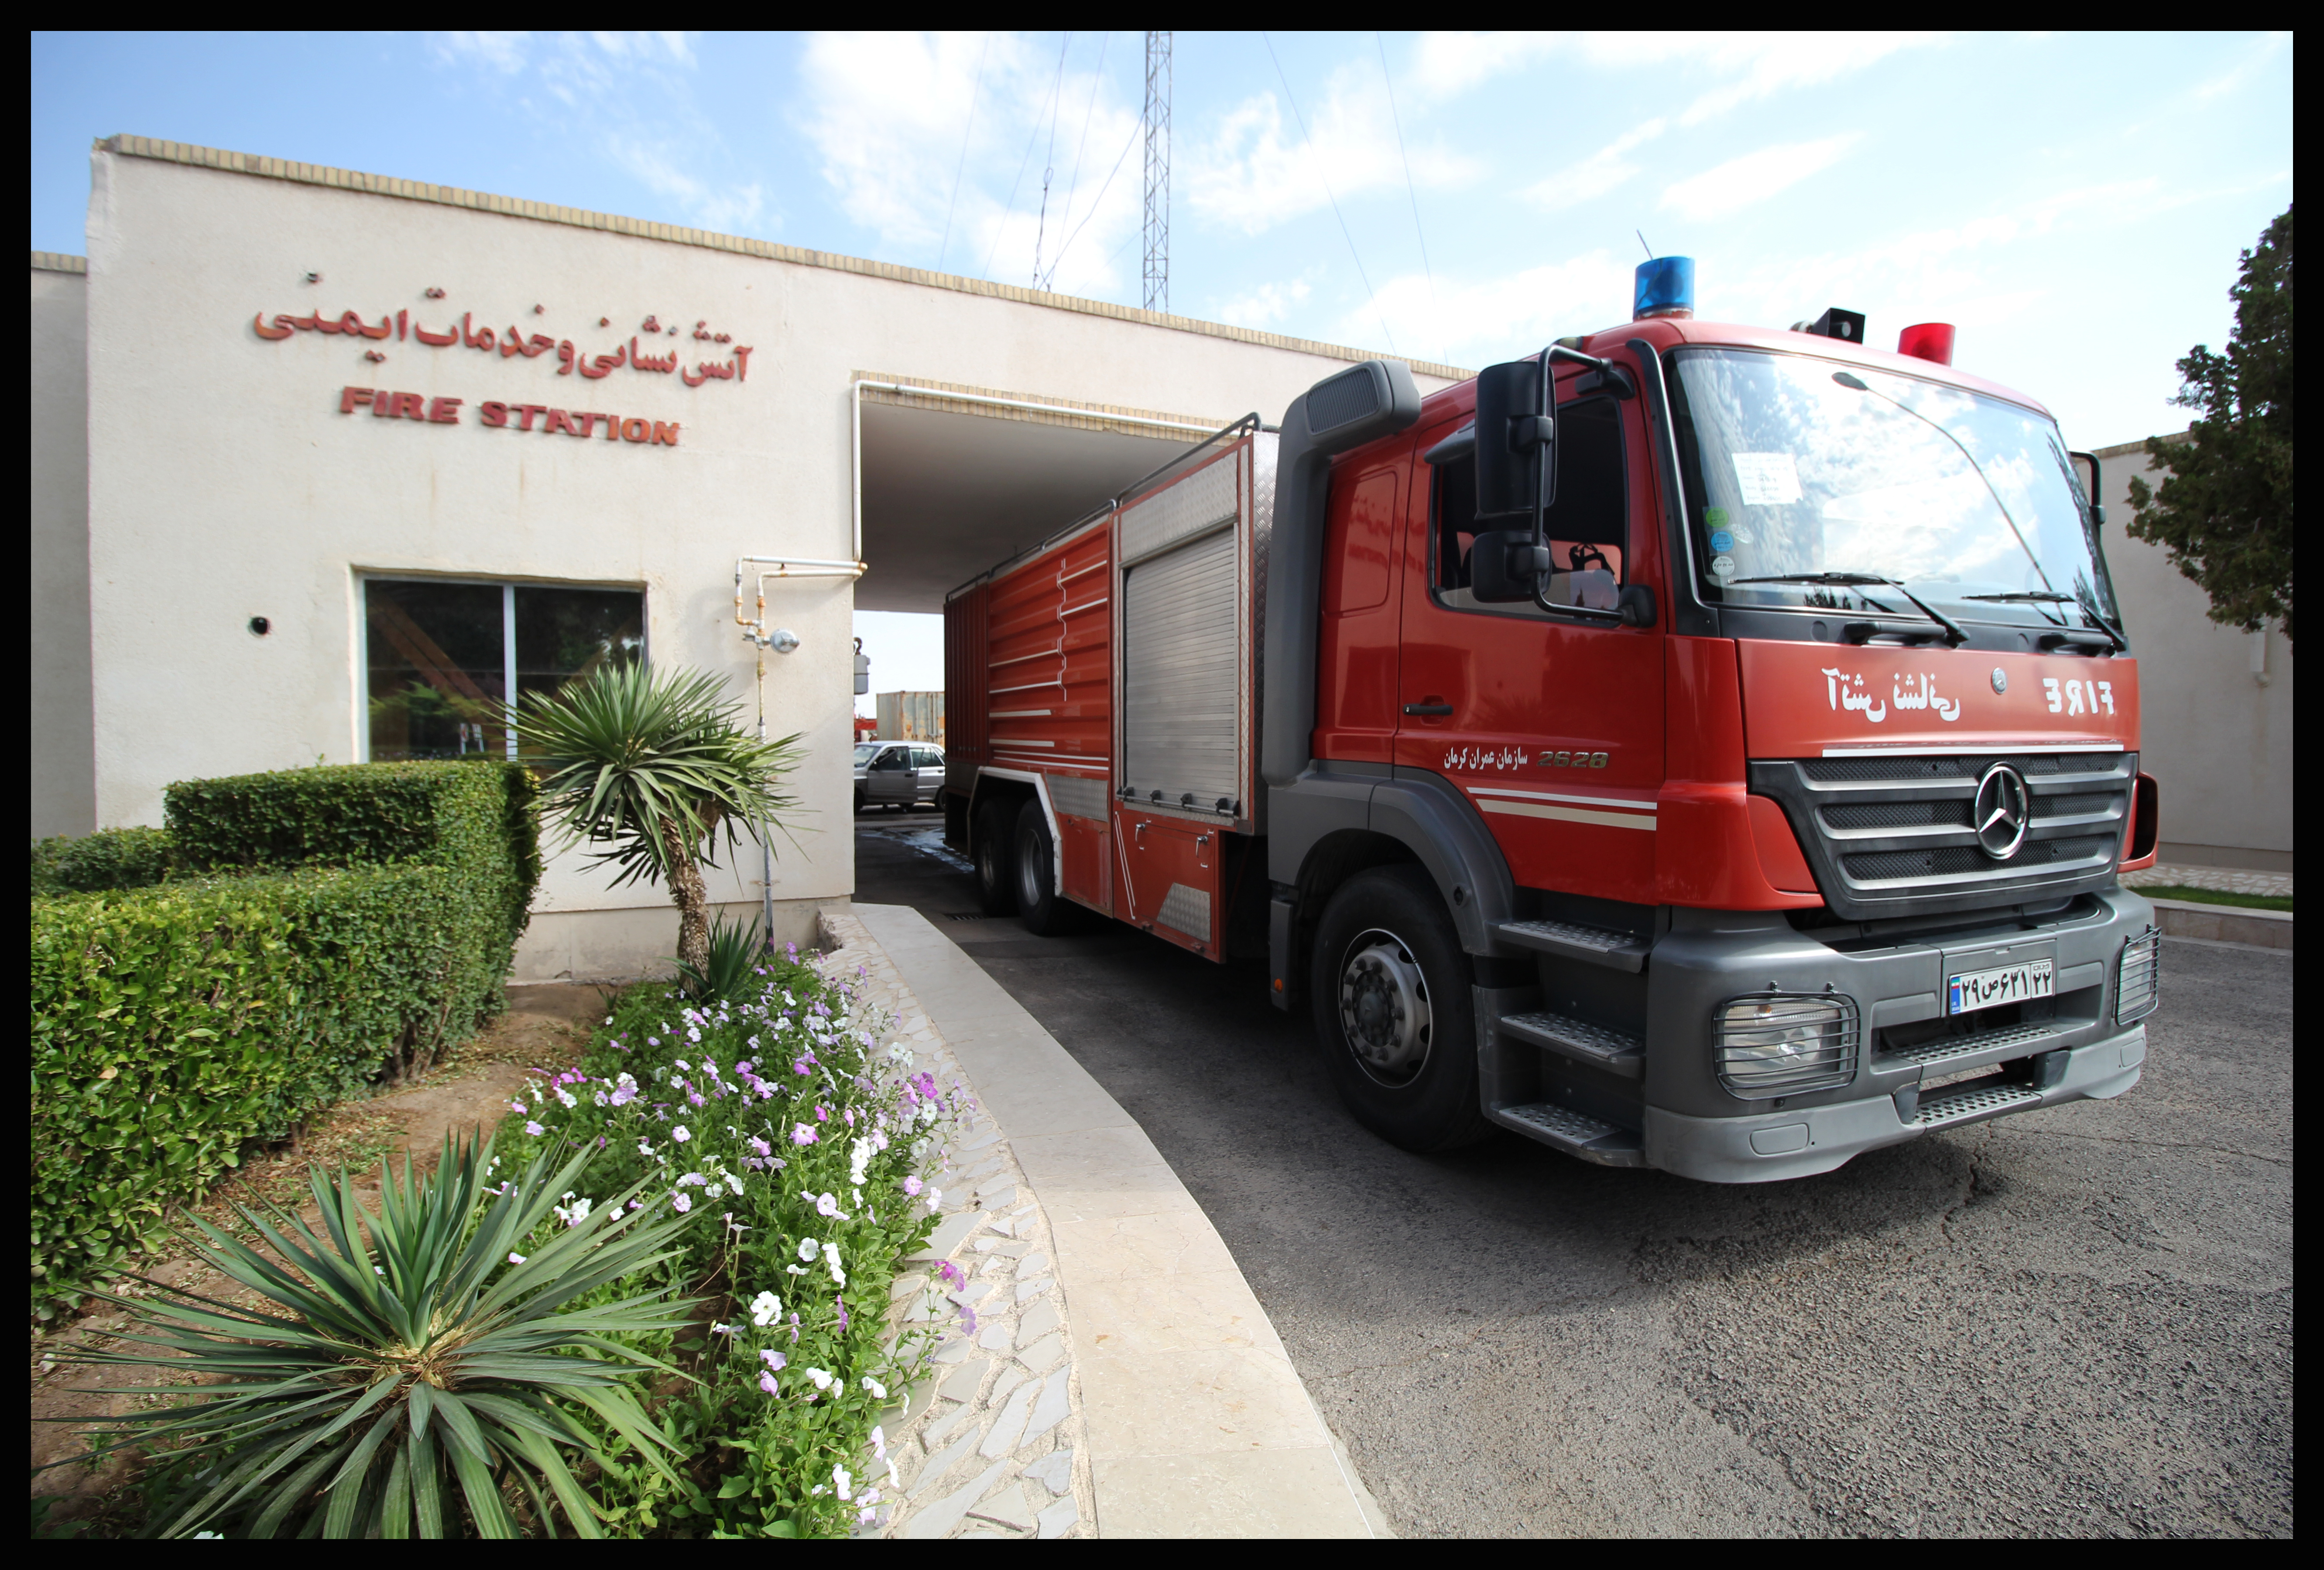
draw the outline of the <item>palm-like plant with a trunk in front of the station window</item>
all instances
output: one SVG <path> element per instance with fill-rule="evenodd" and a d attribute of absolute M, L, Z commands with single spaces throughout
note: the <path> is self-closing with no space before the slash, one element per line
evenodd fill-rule
<path fill-rule="evenodd" d="M 709 964 L 709 890 L 702 866 L 725 831 L 767 843 L 788 836 L 797 801 L 781 790 L 799 762 L 797 736 L 760 741 L 737 725 L 706 671 L 604 664 L 558 692 L 528 692 L 511 711 L 525 757 L 546 771 L 541 813 L 572 841 L 607 845 L 597 862 L 621 869 L 614 887 L 648 878 L 679 908 L 679 964 Z"/>

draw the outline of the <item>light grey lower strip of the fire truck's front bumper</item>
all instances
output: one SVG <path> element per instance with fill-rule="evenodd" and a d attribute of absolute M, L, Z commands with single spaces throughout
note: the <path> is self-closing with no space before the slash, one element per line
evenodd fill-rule
<path fill-rule="evenodd" d="M 1961 1124 L 2031 1112 L 2064 1101 L 2106 1101 L 2138 1085 L 2147 1061 L 2147 1027 L 2047 1054 L 2043 1073 L 2008 1094 L 1917 1103 L 1903 1096 L 1838 1101 L 1831 1106 L 1759 1112 L 1750 1117 L 1687 1117 L 1645 1108 L 1645 1164 L 1703 1182 L 1776 1182 L 1829 1173 L 1882 1145 L 1957 1129 Z M 1906 1115 L 1910 1108 L 1910 1117 Z"/>

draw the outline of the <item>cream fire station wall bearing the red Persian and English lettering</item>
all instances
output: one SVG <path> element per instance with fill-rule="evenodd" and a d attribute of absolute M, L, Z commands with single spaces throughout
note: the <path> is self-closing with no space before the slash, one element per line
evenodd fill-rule
<path fill-rule="evenodd" d="M 205 167 L 228 160 L 242 163 L 93 153 L 91 685 L 107 827 L 158 822 L 170 780 L 358 759 L 363 571 L 641 585 L 653 660 L 720 671 L 748 699 L 734 557 L 851 555 L 853 367 L 1118 406 L 1281 409 L 1346 365 L 1281 339 L 846 258 L 746 255 L 611 232 L 586 214 L 560 223 L 344 188 L 367 177 Z M 304 283 L 309 272 L 321 283 Z M 632 369 L 558 376 L 555 355 L 251 330 L 253 314 L 318 307 L 365 321 L 409 309 L 437 330 L 474 311 L 476 325 L 514 321 L 586 353 L 627 344 L 648 314 L 686 330 L 706 318 L 755 353 L 746 381 L 686 388 Z M 665 337 L 660 348 L 690 365 L 709 346 Z M 467 399 L 462 423 L 342 416 L 349 383 Z M 486 430 L 481 399 L 679 420 L 681 446 Z M 844 581 L 767 592 L 769 620 L 802 636 L 799 653 L 769 657 L 769 727 L 809 748 L 799 848 L 779 841 L 772 894 L 837 901 L 855 883 L 853 595 Z M 253 615 L 272 620 L 270 636 L 246 629 Z M 716 873 L 711 896 L 755 903 L 755 855 Z M 537 913 L 607 913 L 607 936 L 541 920 L 518 973 L 639 968 L 662 938 L 623 938 L 653 922 L 618 913 L 665 903 L 555 857 Z"/>

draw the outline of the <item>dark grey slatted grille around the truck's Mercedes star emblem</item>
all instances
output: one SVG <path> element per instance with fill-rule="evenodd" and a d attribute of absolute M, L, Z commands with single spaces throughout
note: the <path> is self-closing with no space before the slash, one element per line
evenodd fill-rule
<path fill-rule="evenodd" d="M 1978 780 L 2010 764 L 2031 794 L 2017 855 L 1989 857 L 1971 824 Z M 1796 757 L 1750 764 L 1776 799 L 1824 903 L 1843 920 L 2047 903 L 2103 887 L 2129 824 L 2136 752 Z"/>

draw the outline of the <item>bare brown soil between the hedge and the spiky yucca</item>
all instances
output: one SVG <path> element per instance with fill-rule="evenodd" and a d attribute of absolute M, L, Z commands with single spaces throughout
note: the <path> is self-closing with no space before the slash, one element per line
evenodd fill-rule
<path fill-rule="evenodd" d="M 198 1208 L 211 1226 L 235 1222 L 232 1205 L 290 1205 L 307 1194 L 307 1168 L 370 1168 L 356 1191 L 379 1191 L 379 1161 L 409 1159 L 430 1171 L 444 1152 L 444 1138 L 490 1131 L 509 1110 L 509 1099 L 525 1085 L 530 1068 L 572 1066 L 588 1043 L 590 1027 L 604 1017 L 604 989 L 576 985 L 509 987 L 509 1010 L 444 1057 L 416 1085 L 381 1087 L 367 1101 L 346 1101 L 316 1117 L 314 1124 L 277 1152 L 246 1161 L 218 1184 Z M 397 1166 L 400 1171 L 400 1166 Z M 311 1198 L 297 1203 L 300 1215 L 316 1222 Z M 142 1275 L 235 1301 L 223 1277 L 191 1254 L 149 1263 Z M 116 1454 L 91 1465 L 88 1438 L 81 1424 L 95 1417 L 119 1417 L 132 1403 L 156 1403 L 139 1396 L 156 1382 L 170 1382 L 151 1368 L 74 1366 L 84 1349 L 114 1345 L 128 1317 L 119 1305 L 84 1298 L 81 1315 L 53 1321 L 33 1335 L 33 1500 L 42 1533 L 88 1531 L 109 1535 L 112 1526 L 130 1526 L 135 1517 L 135 1456 Z M 42 1470 L 46 1468 L 46 1470 Z M 40 1505 L 46 1500 L 42 1519 Z"/>

